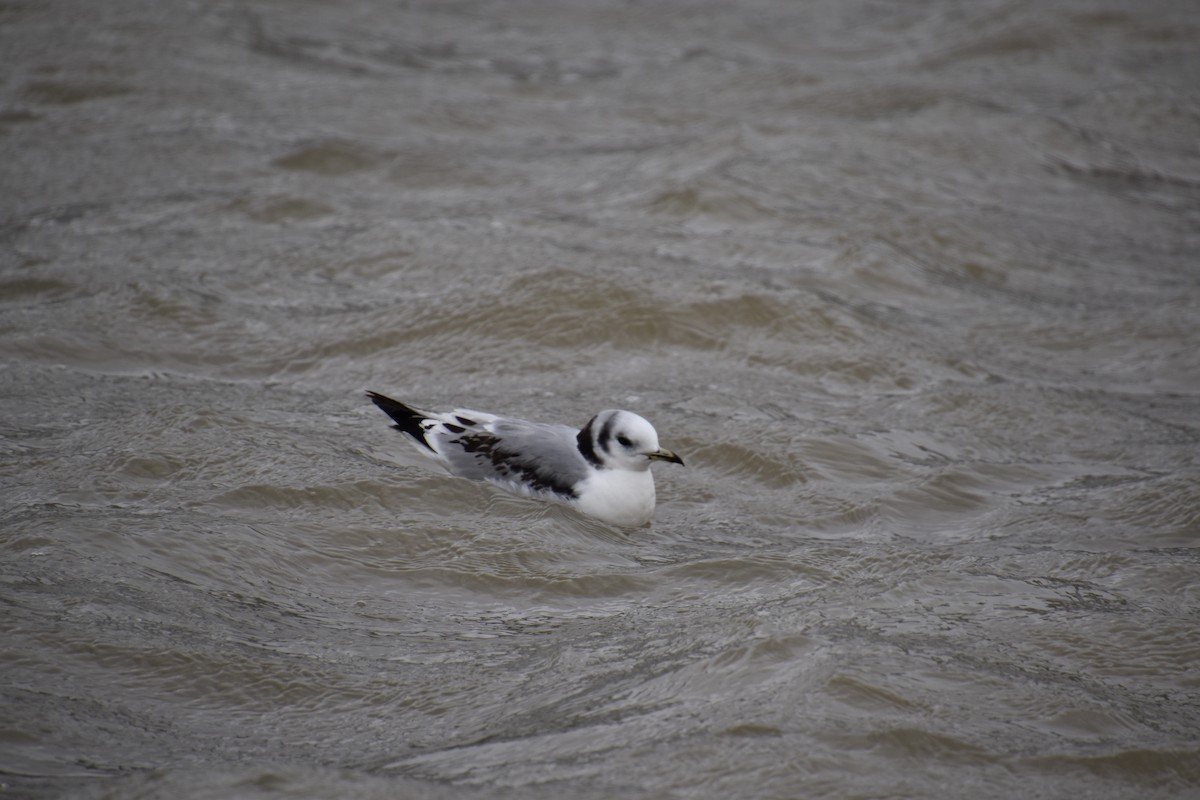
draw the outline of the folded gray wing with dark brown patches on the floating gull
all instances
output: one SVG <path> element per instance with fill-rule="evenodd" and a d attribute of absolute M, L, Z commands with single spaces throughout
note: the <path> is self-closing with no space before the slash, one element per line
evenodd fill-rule
<path fill-rule="evenodd" d="M 462 477 L 571 499 L 589 474 L 576 443 L 578 432 L 565 425 L 502 417 L 458 431 L 439 437 L 438 452 Z"/>

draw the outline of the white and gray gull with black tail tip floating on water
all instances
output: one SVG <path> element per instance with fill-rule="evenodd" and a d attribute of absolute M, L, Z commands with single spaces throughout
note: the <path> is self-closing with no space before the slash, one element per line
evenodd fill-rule
<path fill-rule="evenodd" d="M 654 515 L 650 464 L 683 459 L 659 446 L 632 411 L 600 411 L 581 429 L 484 411 L 424 411 L 367 392 L 396 429 L 451 475 L 558 500 L 604 522 L 635 528 Z"/>

